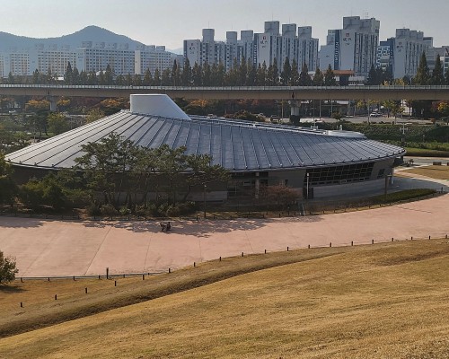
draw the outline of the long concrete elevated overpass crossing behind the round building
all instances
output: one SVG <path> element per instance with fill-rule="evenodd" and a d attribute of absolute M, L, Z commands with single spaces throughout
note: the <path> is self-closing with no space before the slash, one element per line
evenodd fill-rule
<path fill-rule="evenodd" d="M 165 93 L 172 99 L 202 100 L 449 100 L 449 86 L 117 86 L 0 84 L 0 96 L 128 98 L 132 93 Z"/>

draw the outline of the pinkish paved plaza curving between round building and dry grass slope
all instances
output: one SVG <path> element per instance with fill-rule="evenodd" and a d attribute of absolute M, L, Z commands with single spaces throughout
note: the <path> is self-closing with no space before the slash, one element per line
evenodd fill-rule
<path fill-rule="evenodd" d="M 0 249 L 18 276 L 85 276 L 166 271 L 218 257 L 374 241 L 445 237 L 449 195 L 398 206 L 306 217 L 172 222 L 48 221 L 1 217 Z"/>

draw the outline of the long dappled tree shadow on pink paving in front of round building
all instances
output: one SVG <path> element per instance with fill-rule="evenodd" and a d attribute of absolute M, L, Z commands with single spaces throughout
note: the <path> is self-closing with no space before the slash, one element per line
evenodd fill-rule
<path fill-rule="evenodd" d="M 214 233 L 231 233 L 234 231 L 253 231 L 266 226 L 268 223 L 312 223 L 320 222 L 321 216 L 313 215 L 307 217 L 288 217 L 280 219 L 245 219 L 234 220 L 199 220 L 199 221 L 170 221 L 172 230 L 163 232 L 164 234 L 185 234 L 188 236 L 208 238 Z M 136 221 L 136 222 L 118 222 L 118 221 L 84 221 L 87 228 L 106 228 L 113 227 L 125 229 L 131 232 L 157 233 L 161 231 L 161 223 L 169 221 Z"/>

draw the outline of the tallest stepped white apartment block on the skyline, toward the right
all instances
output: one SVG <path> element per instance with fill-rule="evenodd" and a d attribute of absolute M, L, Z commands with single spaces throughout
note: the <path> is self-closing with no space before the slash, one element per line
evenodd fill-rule
<path fill-rule="evenodd" d="M 328 31 L 326 45 L 320 50 L 320 68 L 331 66 L 366 76 L 376 62 L 379 30 L 380 22 L 374 18 L 344 17 L 343 29 Z"/>

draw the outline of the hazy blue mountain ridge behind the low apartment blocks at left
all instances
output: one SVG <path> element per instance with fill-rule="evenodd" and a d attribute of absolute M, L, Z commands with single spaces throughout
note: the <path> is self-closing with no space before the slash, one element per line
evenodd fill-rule
<path fill-rule="evenodd" d="M 31 49 L 37 44 L 44 44 L 45 47 L 50 45 L 57 45 L 58 47 L 68 45 L 71 49 L 75 49 L 79 48 L 83 41 L 128 43 L 130 49 L 136 48 L 137 45 L 143 45 L 141 42 L 130 39 L 127 36 L 118 35 L 98 26 L 87 26 L 73 34 L 48 39 L 27 38 L 0 31 L 0 51 Z"/>

